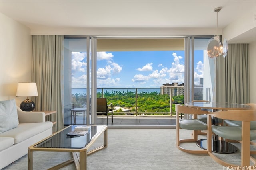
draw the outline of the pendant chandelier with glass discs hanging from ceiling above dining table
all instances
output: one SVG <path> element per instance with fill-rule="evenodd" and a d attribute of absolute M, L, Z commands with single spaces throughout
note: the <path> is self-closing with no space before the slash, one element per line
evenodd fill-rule
<path fill-rule="evenodd" d="M 214 57 L 226 57 L 228 51 L 228 41 L 226 39 L 223 40 L 223 44 L 221 44 L 219 36 L 218 36 L 218 12 L 220 12 L 221 8 L 215 8 L 213 11 L 217 13 L 217 26 L 216 26 L 216 36 L 212 37 L 208 41 L 207 45 L 207 55 L 210 58 Z"/>

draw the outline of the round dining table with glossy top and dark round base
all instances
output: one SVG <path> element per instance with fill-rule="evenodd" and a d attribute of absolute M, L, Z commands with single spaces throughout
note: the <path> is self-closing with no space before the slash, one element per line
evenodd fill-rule
<path fill-rule="evenodd" d="M 250 109 L 250 106 L 246 104 L 237 104 L 237 103 L 226 103 L 226 102 L 188 102 L 185 106 L 193 107 L 196 109 L 211 109 L 212 111 L 221 111 L 221 110 L 242 110 Z M 232 115 L 230 115 L 232 116 Z M 218 119 L 212 118 L 215 125 L 218 125 Z M 207 139 L 200 139 L 196 144 L 202 149 L 207 149 Z M 218 135 L 213 135 L 212 137 L 212 152 L 216 153 L 234 153 L 237 151 L 237 148 L 226 141 L 219 140 Z"/>

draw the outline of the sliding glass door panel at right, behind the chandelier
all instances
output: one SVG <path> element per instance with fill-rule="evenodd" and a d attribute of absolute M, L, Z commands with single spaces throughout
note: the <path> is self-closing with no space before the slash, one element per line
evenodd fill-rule
<path fill-rule="evenodd" d="M 206 52 L 211 37 L 186 38 L 186 83 L 185 102 L 192 100 L 215 101 L 216 98 L 216 59 L 209 58 Z"/>

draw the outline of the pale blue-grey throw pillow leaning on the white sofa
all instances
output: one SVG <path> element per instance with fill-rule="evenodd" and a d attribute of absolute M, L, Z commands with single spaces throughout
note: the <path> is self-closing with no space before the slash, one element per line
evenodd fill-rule
<path fill-rule="evenodd" d="M 13 129 L 18 124 L 15 99 L 0 101 L 0 133 Z"/>

